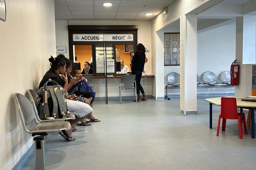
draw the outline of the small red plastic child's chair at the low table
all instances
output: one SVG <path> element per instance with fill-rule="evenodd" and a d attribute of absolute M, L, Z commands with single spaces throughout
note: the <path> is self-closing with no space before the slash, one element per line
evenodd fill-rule
<path fill-rule="evenodd" d="M 218 119 L 216 136 L 218 136 L 219 134 L 221 118 L 222 118 L 222 131 L 225 131 L 226 129 L 227 119 L 238 119 L 239 139 L 243 139 L 241 120 L 243 120 L 243 123 L 244 123 L 244 132 L 247 134 L 245 116 L 244 116 L 244 113 L 237 112 L 236 98 L 221 97 L 221 114 L 219 115 L 219 119 Z"/>

